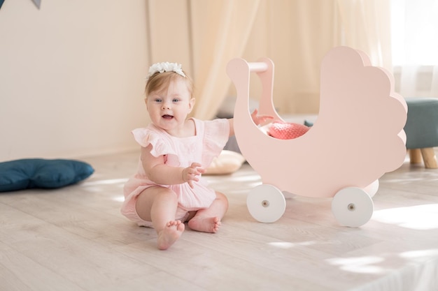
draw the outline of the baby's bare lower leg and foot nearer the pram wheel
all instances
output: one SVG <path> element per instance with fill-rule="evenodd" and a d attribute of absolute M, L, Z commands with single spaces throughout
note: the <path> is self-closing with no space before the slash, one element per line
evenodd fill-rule
<path fill-rule="evenodd" d="M 209 208 L 198 210 L 195 216 L 190 219 L 188 225 L 192 230 L 199 232 L 218 232 L 222 224 L 220 220 L 227 212 L 227 209 L 227 197 L 220 192 L 216 192 L 216 200 Z"/>

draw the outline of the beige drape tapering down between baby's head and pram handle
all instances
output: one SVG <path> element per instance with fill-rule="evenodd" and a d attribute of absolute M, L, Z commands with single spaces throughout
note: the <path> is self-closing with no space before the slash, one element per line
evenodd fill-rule
<path fill-rule="evenodd" d="M 191 2 L 192 11 L 199 11 L 198 6 L 204 8 L 204 13 L 192 16 L 194 31 L 197 27 L 207 28 L 194 35 L 197 104 L 193 115 L 210 119 L 216 114 L 231 84 L 225 73 L 228 61 L 242 55 L 260 1 L 208 1 L 208 6 L 204 2 Z"/>

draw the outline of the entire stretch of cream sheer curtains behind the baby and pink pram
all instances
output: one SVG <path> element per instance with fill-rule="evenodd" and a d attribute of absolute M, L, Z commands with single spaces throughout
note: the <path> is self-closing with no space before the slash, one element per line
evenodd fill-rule
<path fill-rule="evenodd" d="M 316 114 L 320 61 L 332 47 L 362 50 L 391 70 L 390 1 L 148 0 L 148 59 L 183 64 L 199 119 L 213 118 L 232 93 L 225 68 L 234 57 L 271 58 L 281 114 Z"/>

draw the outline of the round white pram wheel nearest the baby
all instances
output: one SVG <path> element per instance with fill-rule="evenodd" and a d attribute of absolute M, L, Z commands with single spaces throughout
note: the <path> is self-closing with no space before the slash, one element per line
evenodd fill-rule
<path fill-rule="evenodd" d="M 263 184 L 253 188 L 246 197 L 248 211 L 261 223 L 273 223 L 283 216 L 286 200 L 275 186 Z"/>

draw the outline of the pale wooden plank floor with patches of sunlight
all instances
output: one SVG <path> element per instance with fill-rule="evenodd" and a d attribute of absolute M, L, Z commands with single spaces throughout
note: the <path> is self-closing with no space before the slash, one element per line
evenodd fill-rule
<path fill-rule="evenodd" d="M 243 165 L 208 178 L 230 202 L 220 232 L 188 229 L 158 251 L 119 212 L 137 153 L 81 160 L 96 170 L 82 184 L 0 194 L 1 291 L 438 290 L 438 170 L 386 174 L 372 220 L 350 228 L 327 198 L 286 196 L 280 220 L 255 221 L 246 193 L 260 177 Z"/>

